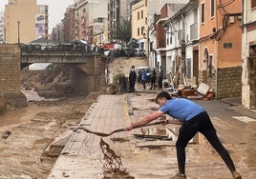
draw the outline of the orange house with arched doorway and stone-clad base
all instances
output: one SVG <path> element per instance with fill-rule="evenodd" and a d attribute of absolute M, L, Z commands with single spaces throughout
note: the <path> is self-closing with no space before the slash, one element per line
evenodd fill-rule
<path fill-rule="evenodd" d="M 241 96 L 242 1 L 199 1 L 199 81 L 217 98 Z"/>

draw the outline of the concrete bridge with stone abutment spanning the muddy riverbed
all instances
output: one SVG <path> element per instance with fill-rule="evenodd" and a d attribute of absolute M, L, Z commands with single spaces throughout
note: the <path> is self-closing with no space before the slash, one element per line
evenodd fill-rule
<path fill-rule="evenodd" d="M 0 96 L 11 103 L 26 101 L 20 92 L 21 70 L 33 63 L 69 64 L 76 93 L 98 91 L 105 86 L 105 59 L 100 54 L 78 51 L 23 51 L 18 45 L 0 45 Z M 27 101 L 26 101 L 27 104 Z"/>

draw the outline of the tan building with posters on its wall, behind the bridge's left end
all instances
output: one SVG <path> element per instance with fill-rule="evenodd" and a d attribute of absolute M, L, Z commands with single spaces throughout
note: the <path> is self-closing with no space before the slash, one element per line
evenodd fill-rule
<path fill-rule="evenodd" d="M 7 43 L 29 43 L 48 37 L 48 6 L 34 0 L 9 0 L 5 6 Z"/>

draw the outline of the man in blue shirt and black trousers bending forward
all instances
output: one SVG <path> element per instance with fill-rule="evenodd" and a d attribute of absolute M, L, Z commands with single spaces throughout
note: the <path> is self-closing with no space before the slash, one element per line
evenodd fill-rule
<path fill-rule="evenodd" d="M 173 179 L 186 179 L 185 147 L 197 132 L 203 133 L 204 137 L 209 141 L 212 147 L 221 155 L 225 165 L 231 171 L 233 178 L 242 179 L 240 173 L 236 171 L 229 153 L 224 149 L 223 144 L 218 138 L 216 129 L 214 129 L 211 120 L 203 107 L 188 99 L 172 99 L 171 95 L 166 91 L 161 91 L 158 94 L 156 102 L 160 105 L 159 110 L 144 117 L 140 121 L 127 126 L 126 130 L 131 130 L 150 123 L 163 114 L 168 114 L 177 119 L 170 121 L 171 124 L 181 125 L 178 140 L 176 142 L 179 173 L 172 177 Z"/>

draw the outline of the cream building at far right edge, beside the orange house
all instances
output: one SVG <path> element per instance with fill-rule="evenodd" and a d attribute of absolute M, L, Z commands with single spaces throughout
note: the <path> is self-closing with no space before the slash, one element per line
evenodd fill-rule
<path fill-rule="evenodd" d="M 240 18 L 240 16 L 237 16 Z M 242 104 L 256 109 L 256 1 L 243 1 Z"/>

